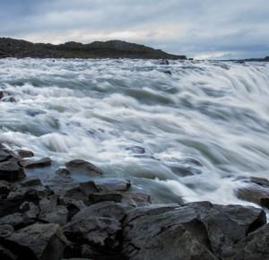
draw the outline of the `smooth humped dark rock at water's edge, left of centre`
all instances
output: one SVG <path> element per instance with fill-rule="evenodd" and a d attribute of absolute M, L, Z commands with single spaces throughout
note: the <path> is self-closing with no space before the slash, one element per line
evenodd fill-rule
<path fill-rule="evenodd" d="M 102 175 L 102 171 L 87 160 L 70 160 L 65 163 L 66 169 L 75 173 L 82 173 L 92 177 Z"/>

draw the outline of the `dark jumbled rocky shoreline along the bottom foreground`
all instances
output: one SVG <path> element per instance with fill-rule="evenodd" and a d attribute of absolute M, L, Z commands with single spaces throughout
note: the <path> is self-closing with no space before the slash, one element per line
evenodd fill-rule
<path fill-rule="evenodd" d="M 104 178 L 85 160 L 66 162 L 44 184 L 25 170 L 48 167 L 51 160 L 33 155 L 0 145 L 0 259 L 269 259 L 263 209 L 152 204 L 129 180 Z M 91 180 L 73 183 L 75 172 Z M 267 207 L 268 181 L 247 182 L 254 192 L 246 187 L 239 196 Z"/>

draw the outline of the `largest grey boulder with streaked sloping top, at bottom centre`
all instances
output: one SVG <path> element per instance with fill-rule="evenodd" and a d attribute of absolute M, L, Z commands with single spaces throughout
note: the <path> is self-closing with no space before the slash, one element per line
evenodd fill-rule
<path fill-rule="evenodd" d="M 151 205 L 135 209 L 124 221 L 126 259 L 217 260 L 203 223 L 192 207 Z"/>

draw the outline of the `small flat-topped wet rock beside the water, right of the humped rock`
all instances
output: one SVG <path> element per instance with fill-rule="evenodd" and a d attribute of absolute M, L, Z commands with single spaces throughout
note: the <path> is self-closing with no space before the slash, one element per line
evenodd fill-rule
<path fill-rule="evenodd" d="M 130 188 L 131 182 L 122 178 L 100 178 L 93 181 L 100 192 L 119 192 Z"/>

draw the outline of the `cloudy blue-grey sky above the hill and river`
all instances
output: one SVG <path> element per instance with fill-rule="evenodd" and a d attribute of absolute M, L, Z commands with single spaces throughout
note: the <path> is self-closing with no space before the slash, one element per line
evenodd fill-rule
<path fill-rule="evenodd" d="M 269 0 L 0 0 L 0 37 L 121 39 L 203 59 L 269 56 Z"/>

